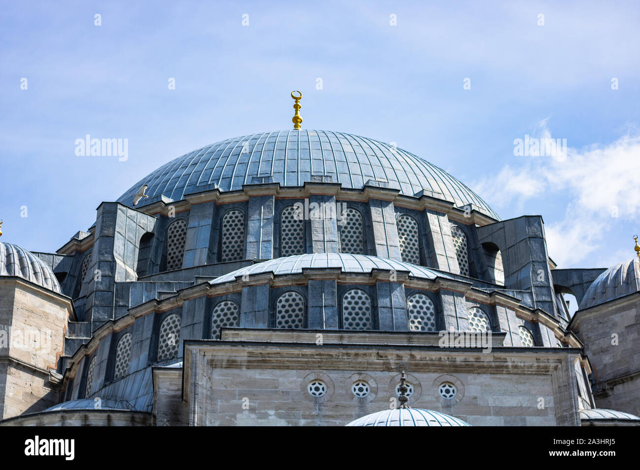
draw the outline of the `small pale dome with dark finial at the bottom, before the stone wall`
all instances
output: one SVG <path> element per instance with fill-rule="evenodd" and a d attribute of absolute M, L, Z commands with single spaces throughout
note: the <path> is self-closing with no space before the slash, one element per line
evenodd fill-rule
<path fill-rule="evenodd" d="M 470 426 L 448 414 L 422 408 L 397 408 L 367 414 L 347 426 Z"/>

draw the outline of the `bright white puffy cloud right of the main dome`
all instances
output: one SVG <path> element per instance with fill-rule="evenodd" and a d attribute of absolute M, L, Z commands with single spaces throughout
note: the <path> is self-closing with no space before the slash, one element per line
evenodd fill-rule
<path fill-rule="evenodd" d="M 536 136 L 551 137 L 547 120 L 540 122 Z M 613 264 L 611 256 L 602 257 L 607 232 L 614 223 L 631 222 L 640 214 L 640 134 L 626 134 L 609 145 L 568 146 L 566 159 L 518 158 L 523 159 L 521 166 L 504 166 L 477 183 L 479 194 L 497 207 L 522 206 L 533 198 L 566 198 L 563 219 L 545 224 L 550 256 L 564 267 L 590 256 L 598 264 L 609 263 L 605 267 Z"/>

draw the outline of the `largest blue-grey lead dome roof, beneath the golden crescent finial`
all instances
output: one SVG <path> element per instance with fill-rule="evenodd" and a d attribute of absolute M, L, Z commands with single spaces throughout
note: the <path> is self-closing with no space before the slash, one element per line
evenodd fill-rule
<path fill-rule="evenodd" d="M 164 194 L 174 201 L 184 194 L 236 191 L 254 177 L 272 178 L 282 186 L 301 186 L 313 175 L 332 176 L 342 187 L 361 189 L 369 180 L 387 182 L 406 196 L 422 189 L 454 201 L 475 205 L 483 214 L 499 217 L 479 196 L 442 169 L 412 153 L 367 137 L 324 130 L 279 130 L 235 137 L 207 145 L 172 160 L 142 178 L 118 202 L 132 205 L 133 195 L 147 184 L 148 199 Z M 440 193 L 440 194 L 438 194 Z"/>

